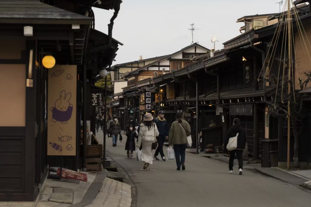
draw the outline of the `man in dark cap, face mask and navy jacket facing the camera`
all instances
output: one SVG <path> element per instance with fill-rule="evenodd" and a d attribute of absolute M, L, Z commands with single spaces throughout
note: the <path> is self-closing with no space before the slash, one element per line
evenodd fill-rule
<path fill-rule="evenodd" d="M 156 152 L 153 155 L 153 158 L 155 160 L 159 160 L 158 155 L 160 153 L 162 161 L 165 161 L 165 155 L 163 152 L 163 145 L 165 142 L 165 138 L 168 138 L 168 136 L 169 136 L 169 127 L 168 127 L 166 119 L 164 118 L 164 112 L 159 111 L 158 117 L 156 117 L 156 119 L 154 119 L 153 122 L 156 123 L 156 126 L 157 126 L 158 131 L 159 131 L 159 136 L 156 137 L 157 141 L 158 141 L 158 147 L 156 148 Z"/>

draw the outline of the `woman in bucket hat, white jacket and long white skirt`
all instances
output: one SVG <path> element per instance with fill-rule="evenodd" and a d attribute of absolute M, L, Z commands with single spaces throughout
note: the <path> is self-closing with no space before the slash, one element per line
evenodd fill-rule
<path fill-rule="evenodd" d="M 136 146 L 139 148 L 142 145 L 141 159 L 144 162 L 143 169 L 149 170 L 152 164 L 152 143 L 156 142 L 156 137 L 159 136 L 156 124 L 153 123 L 153 117 L 150 113 L 145 114 L 144 122 L 140 124 L 138 141 Z"/>

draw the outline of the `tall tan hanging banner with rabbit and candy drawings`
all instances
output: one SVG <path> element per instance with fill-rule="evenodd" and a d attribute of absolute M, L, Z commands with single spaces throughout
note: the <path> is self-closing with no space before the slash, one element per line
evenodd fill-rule
<path fill-rule="evenodd" d="M 76 155 L 77 66 L 48 70 L 48 155 Z"/>

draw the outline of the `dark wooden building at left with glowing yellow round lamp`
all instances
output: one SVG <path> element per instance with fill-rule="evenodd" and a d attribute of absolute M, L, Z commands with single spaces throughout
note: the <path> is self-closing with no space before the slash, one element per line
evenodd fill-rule
<path fill-rule="evenodd" d="M 120 1 L 0 1 L 0 94 L 10 97 L 0 100 L 0 201 L 35 205 L 48 165 L 85 169 L 91 85 L 121 45 L 112 25 L 94 29 L 92 6 L 117 14 Z"/>

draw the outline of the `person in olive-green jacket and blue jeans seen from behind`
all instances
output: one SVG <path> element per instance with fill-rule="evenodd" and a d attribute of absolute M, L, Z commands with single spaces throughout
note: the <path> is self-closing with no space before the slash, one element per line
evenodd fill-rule
<path fill-rule="evenodd" d="M 190 136 L 191 129 L 187 121 L 183 119 L 182 113 L 176 114 L 176 121 L 173 122 L 169 131 L 169 145 L 174 145 L 175 159 L 177 170 L 180 166 L 183 170 L 185 167 L 187 136 Z"/>

